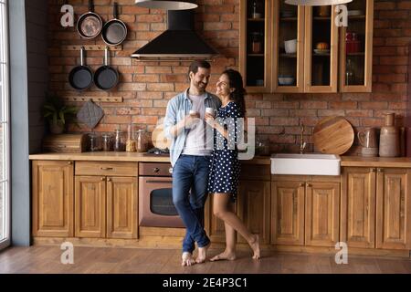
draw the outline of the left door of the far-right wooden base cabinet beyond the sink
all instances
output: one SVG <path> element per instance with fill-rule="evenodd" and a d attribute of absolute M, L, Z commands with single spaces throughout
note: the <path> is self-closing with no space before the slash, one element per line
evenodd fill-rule
<path fill-rule="evenodd" d="M 375 169 L 342 169 L 341 239 L 350 247 L 375 246 Z"/>

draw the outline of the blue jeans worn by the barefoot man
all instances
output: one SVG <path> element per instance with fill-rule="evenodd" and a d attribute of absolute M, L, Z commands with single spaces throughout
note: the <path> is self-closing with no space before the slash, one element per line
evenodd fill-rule
<path fill-rule="evenodd" d="M 198 247 L 210 243 L 204 230 L 209 163 L 207 156 L 183 154 L 173 168 L 173 203 L 186 227 L 183 252 L 193 253 L 195 242 Z"/>

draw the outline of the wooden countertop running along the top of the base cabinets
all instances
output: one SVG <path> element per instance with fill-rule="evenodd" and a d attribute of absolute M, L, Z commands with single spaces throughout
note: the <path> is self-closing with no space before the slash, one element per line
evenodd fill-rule
<path fill-rule="evenodd" d="M 247 164 L 269 165 L 269 156 L 256 156 Z M 94 161 L 94 162 L 170 162 L 168 155 L 157 156 L 137 152 L 83 152 L 83 153 L 41 153 L 29 155 L 30 160 Z M 341 166 L 357 167 L 405 167 L 411 168 L 411 157 L 361 157 L 341 156 Z"/>

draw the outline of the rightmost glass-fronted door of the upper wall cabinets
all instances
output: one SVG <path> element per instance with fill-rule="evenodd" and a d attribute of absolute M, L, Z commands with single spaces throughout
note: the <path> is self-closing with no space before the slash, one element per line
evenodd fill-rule
<path fill-rule="evenodd" d="M 347 4 L 348 27 L 340 30 L 340 91 L 371 92 L 374 0 Z"/>

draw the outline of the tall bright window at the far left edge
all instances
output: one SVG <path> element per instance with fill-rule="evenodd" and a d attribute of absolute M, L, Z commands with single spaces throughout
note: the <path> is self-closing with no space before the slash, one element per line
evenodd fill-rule
<path fill-rule="evenodd" d="M 10 242 L 7 0 L 0 0 L 0 249 Z"/>

